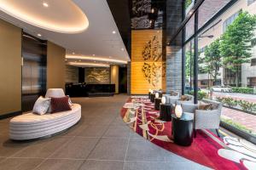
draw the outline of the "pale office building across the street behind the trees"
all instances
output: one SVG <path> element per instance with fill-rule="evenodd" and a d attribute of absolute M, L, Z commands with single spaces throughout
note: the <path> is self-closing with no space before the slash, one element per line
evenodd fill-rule
<path fill-rule="evenodd" d="M 204 51 L 206 47 L 214 40 L 221 37 L 226 31 L 227 27 L 236 20 L 239 11 L 247 11 L 249 14 L 256 14 L 256 1 L 255 0 L 239 0 L 232 7 L 221 14 L 216 20 L 212 22 L 212 25 L 208 26 L 204 31 L 201 31 L 199 35 L 199 52 L 200 58 L 204 58 Z M 241 87 L 254 87 L 256 86 L 256 30 L 255 35 L 252 37 L 252 57 L 249 63 L 241 65 L 241 71 L 239 75 L 239 84 Z M 212 38 L 207 36 L 213 36 Z M 203 65 L 201 65 L 203 67 Z M 199 87 L 207 88 L 212 86 L 212 77 L 202 71 L 198 75 Z M 236 79 L 235 74 L 223 67 L 219 68 L 218 83 L 215 85 L 230 85 L 235 86 Z"/>

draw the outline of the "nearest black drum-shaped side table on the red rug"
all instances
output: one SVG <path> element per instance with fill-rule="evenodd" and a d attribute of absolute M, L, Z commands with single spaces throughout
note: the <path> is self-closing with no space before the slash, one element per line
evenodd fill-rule
<path fill-rule="evenodd" d="M 175 144 L 189 146 L 193 142 L 193 116 L 183 113 L 181 118 L 172 114 L 172 136 Z"/>

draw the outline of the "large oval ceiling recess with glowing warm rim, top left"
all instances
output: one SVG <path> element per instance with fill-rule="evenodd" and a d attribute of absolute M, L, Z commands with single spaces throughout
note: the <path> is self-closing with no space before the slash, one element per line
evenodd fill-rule
<path fill-rule="evenodd" d="M 79 33 L 89 26 L 71 0 L 0 0 L 0 10 L 32 26 L 61 33 Z"/>

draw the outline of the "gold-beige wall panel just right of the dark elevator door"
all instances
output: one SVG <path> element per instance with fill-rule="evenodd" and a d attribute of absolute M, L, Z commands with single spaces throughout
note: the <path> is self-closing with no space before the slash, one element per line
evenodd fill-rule
<path fill-rule="evenodd" d="M 65 48 L 47 42 L 47 88 L 65 90 L 65 55 Z"/>

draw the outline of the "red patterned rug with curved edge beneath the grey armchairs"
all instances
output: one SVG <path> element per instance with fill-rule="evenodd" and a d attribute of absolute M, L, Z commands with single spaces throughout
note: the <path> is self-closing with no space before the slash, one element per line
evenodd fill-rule
<path fill-rule="evenodd" d="M 224 139 L 218 138 L 208 130 L 197 130 L 196 138 L 190 146 L 174 144 L 172 122 L 160 121 L 160 112 L 154 110 L 154 104 L 146 97 L 129 99 L 120 114 L 124 122 L 143 138 L 190 161 L 213 169 L 256 169 L 245 166 L 242 162 L 243 157 L 234 161 L 232 153 L 236 153 L 236 150 L 230 149 Z M 230 155 L 223 156 L 223 150 L 230 151 Z"/>

